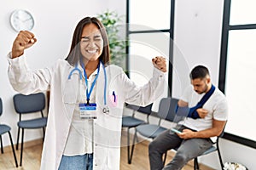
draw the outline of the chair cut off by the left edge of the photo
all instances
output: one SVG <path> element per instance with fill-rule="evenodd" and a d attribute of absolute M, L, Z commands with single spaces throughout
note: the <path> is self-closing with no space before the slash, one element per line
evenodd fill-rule
<path fill-rule="evenodd" d="M 3 102 L 2 99 L 0 98 L 0 116 L 2 116 L 3 114 Z M 3 140 L 2 140 L 2 134 L 4 133 L 9 133 L 9 141 L 11 143 L 12 146 L 12 150 L 13 150 L 13 154 L 15 157 L 15 165 L 16 167 L 18 167 L 18 162 L 17 162 L 17 158 L 16 158 L 16 154 L 15 154 L 15 147 L 14 147 L 14 143 L 13 143 L 13 139 L 12 139 L 12 135 L 10 133 L 11 127 L 9 127 L 6 124 L 1 124 L 0 123 L 0 143 L 1 143 L 1 152 L 3 154 Z"/>

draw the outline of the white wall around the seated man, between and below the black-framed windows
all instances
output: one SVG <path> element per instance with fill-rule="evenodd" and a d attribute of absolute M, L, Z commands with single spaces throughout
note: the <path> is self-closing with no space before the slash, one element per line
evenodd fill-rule
<path fill-rule="evenodd" d="M 207 65 L 212 82 L 218 87 L 218 67 L 224 0 L 176 1 L 174 40 L 174 69 L 172 93 L 179 97 L 189 84 L 189 71 L 195 65 Z M 232 116 L 232 113 L 230 113 Z M 242 126 L 241 124 L 239 126 Z M 256 167 L 256 150 L 221 139 L 223 161 L 240 162 L 249 169 Z M 202 156 L 201 160 L 214 169 L 221 169 L 217 154 Z"/>

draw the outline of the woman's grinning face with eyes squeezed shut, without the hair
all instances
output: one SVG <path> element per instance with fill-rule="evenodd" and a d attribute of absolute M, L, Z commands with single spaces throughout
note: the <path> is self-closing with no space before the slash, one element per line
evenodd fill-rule
<path fill-rule="evenodd" d="M 97 60 L 102 54 L 103 44 L 102 33 L 95 24 L 84 26 L 80 49 L 86 60 Z"/>

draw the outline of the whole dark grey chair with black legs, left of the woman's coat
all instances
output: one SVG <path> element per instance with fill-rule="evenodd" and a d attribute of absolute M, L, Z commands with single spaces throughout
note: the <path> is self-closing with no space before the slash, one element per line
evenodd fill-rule
<path fill-rule="evenodd" d="M 47 118 L 44 117 L 44 107 L 45 107 L 45 96 L 43 93 L 38 94 L 15 94 L 14 96 L 14 105 L 15 111 L 20 115 L 18 122 L 18 136 L 17 136 L 17 145 L 16 150 L 19 147 L 19 137 L 20 137 L 20 128 L 21 128 L 21 150 L 20 150 L 20 166 L 22 165 L 22 153 L 23 153 L 23 141 L 24 141 L 24 129 L 43 129 L 46 127 Z M 41 112 L 41 117 L 34 118 L 30 120 L 21 120 L 21 115 L 31 114 Z"/>

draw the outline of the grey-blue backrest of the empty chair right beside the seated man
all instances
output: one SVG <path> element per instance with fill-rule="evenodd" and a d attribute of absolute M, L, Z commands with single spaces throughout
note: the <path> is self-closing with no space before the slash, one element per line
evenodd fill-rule
<path fill-rule="evenodd" d="M 179 122 L 182 117 L 176 116 L 176 107 L 178 99 L 163 98 L 160 100 L 158 116 L 170 122 Z"/>

